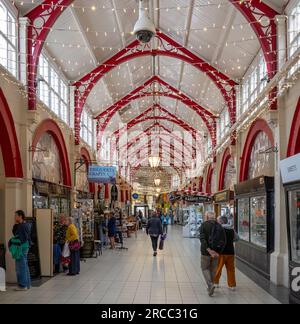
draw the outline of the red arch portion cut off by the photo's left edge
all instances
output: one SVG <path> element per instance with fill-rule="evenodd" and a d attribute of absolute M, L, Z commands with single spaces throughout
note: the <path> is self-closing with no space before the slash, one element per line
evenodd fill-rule
<path fill-rule="evenodd" d="M 0 89 L 0 147 L 7 178 L 23 178 L 22 160 L 15 124 L 4 93 Z"/>

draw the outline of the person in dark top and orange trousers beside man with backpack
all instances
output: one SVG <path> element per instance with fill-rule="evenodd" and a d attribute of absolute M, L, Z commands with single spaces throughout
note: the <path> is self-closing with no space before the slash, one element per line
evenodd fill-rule
<path fill-rule="evenodd" d="M 232 229 L 231 224 L 228 222 L 226 216 L 218 218 L 218 223 L 223 226 L 226 234 L 226 246 L 219 256 L 219 264 L 215 276 L 215 285 L 218 287 L 220 278 L 222 276 L 222 270 L 224 266 L 227 270 L 227 283 L 230 290 L 236 289 L 236 277 L 235 277 L 235 250 L 234 242 L 239 240 L 238 234 Z"/>

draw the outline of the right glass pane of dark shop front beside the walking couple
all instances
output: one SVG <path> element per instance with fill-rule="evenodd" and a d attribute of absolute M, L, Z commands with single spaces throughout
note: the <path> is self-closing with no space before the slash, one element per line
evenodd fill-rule
<path fill-rule="evenodd" d="M 266 196 L 250 199 L 251 207 L 251 243 L 267 247 L 267 198 Z"/>

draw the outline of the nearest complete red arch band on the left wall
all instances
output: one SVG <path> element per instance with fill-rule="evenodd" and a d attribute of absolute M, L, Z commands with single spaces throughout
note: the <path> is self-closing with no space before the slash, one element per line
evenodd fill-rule
<path fill-rule="evenodd" d="M 64 185 L 71 187 L 72 186 L 72 180 L 71 180 L 71 171 L 70 171 L 70 163 L 69 163 L 69 157 L 68 157 L 68 151 L 65 144 L 65 140 L 63 137 L 63 134 L 58 127 L 58 125 L 52 120 L 52 119 L 46 119 L 40 123 L 40 125 L 37 127 L 35 131 L 35 135 L 33 137 L 32 146 L 33 149 L 38 144 L 40 138 L 43 136 L 43 134 L 49 133 L 53 137 L 57 149 L 59 151 L 59 157 L 60 157 L 60 163 L 62 167 L 63 172 L 63 181 Z M 34 151 L 33 151 L 34 154 Z"/>

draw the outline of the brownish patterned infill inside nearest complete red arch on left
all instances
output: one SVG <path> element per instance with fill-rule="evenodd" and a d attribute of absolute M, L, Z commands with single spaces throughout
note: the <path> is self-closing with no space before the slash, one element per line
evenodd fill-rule
<path fill-rule="evenodd" d="M 51 183 L 63 183 L 60 154 L 53 137 L 45 133 L 33 156 L 32 177 Z"/>

